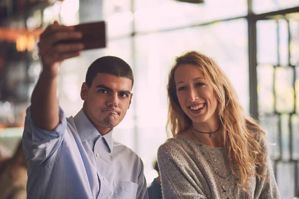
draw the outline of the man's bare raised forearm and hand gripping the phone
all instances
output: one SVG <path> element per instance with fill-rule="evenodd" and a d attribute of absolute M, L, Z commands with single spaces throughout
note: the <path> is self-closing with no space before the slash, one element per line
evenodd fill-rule
<path fill-rule="evenodd" d="M 54 22 L 40 35 L 39 55 L 42 72 L 31 97 L 31 117 L 34 125 L 44 130 L 52 130 L 59 124 L 57 99 L 57 75 L 61 62 L 80 55 L 83 44 L 58 44 L 66 39 L 80 39 L 82 34 L 73 27 Z"/>

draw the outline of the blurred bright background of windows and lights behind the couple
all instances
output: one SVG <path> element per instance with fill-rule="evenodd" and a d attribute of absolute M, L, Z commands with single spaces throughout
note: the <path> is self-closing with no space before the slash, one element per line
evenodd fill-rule
<path fill-rule="evenodd" d="M 246 114 L 259 119 L 283 199 L 299 186 L 299 0 L 1 0 L 0 157 L 14 153 L 41 71 L 38 35 L 65 25 L 107 21 L 108 46 L 63 62 L 58 98 L 66 116 L 82 107 L 88 66 L 105 55 L 133 68 L 133 104 L 114 138 L 136 151 L 147 182 L 166 140 L 166 82 L 175 56 L 196 50 L 216 59 Z"/>

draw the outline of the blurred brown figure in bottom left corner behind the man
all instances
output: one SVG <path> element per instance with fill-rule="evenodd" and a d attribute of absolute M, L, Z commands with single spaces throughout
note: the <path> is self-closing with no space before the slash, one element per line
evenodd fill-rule
<path fill-rule="evenodd" d="M 0 199 L 26 199 L 27 161 L 20 142 L 12 158 L 0 163 Z"/>

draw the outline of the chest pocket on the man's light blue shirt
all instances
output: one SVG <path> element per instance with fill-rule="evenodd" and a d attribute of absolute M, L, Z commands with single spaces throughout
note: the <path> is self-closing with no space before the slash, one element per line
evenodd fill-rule
<path fill-rule="evenodd" d="M 136 199 L 138 184 L 130 181 L 113 181 L 115 199 Z"/>

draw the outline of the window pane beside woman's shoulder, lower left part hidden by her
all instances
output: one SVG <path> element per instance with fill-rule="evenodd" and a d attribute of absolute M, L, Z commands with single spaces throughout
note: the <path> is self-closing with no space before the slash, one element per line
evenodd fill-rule
<path fill-rule="evenodd" d="M 278 115 L 260 115 L 260 125 L 265 130 L 270 142 L 270 155 L 272 159 L 280 157 L 279 142 L 279 116 Z"/>

